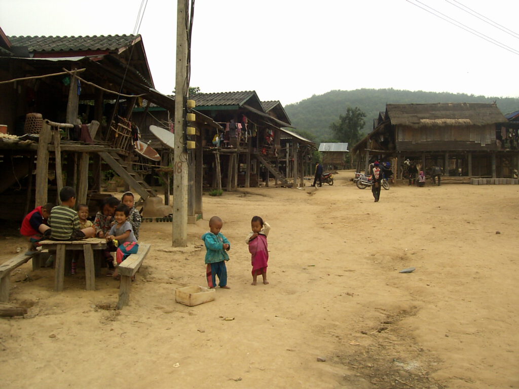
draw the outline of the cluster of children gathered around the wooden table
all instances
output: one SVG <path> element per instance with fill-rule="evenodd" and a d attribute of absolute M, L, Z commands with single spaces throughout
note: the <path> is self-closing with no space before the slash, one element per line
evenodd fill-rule
<path fill-rule="evenodd" d="M 119 264 L 139 249 L 137 242 L 142 218 L 135 209 L 133 193 L 124 193 L 120 201 L 115 197 L 106 198 L 93 223 L 88 220 L 88 205 L 79 204 L 77 212 L 74 211 L 76 192 L 73 188 L 64 187 L 59 196 L 61 205 L 48 203 L 38 206 L 23 219 L 20 232 L 29 238 L 31 244 L 27 254 L 35 251 L 38 242 L 44 239 L 74 241 L 104 238 L 107 242 L 104 255 L 110 268 L 106 275 L 117 277 L 111 253 L 116 252 L 116 262 Z M 76 273 L 75 258 L 71 273 Z"/>

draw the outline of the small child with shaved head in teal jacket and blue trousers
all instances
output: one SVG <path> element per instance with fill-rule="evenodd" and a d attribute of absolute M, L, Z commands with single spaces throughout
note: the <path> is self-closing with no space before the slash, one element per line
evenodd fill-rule
<path fill-rule="evenodd" d="M 220 232 L 223 221 L 218 216 L 213 216 L 209 220 L 209 230 L 202 235 L 202 240 L 206 244 L 206 274 L 207 284 L 211 289 L 216 287 L 216 275 L 218 276 L 219 286 L 223 289 L 230 289 L 227 286 L 227 268 L 225 261 L 229 260 L 227 251 L 230 243 Z"/>

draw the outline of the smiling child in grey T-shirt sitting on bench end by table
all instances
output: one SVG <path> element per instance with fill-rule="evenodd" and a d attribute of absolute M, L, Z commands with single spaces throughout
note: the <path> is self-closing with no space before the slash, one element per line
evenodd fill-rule
<path fill-rule="evenodd" d="M 130 254 L 136 254 L 139 245 L 137 239 L 132 231 L 131 224 L 128 221 L 130 216 L 130 209 L 125 204 L 119 205 L 115 209 L 115 221 L 117 224 L 112 226 L 108 235 L 106 235 L 107 242 L 117 241 L 117 253 L 116 260 L 119 265 L 122 261 L 130 256 Z M 117 277 L 117 268 L 113 272 L 114 278 Z"/>

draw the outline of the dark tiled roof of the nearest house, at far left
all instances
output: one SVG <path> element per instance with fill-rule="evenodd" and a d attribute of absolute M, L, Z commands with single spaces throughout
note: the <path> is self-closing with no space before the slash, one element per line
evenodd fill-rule
<path fill-rule="evenodd" d="M 140 35 L 101 36 L 9 36 L 13 47 L 27 47 L 29 52 L 117 50 L 128 46 Z"/>

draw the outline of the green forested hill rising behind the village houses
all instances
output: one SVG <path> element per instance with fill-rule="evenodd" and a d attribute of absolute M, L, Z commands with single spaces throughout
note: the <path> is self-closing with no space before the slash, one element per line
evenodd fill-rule
<path fill-rule="evenodd" d="M 373 129 L 373 119 L 378 117 L 380 111 L 386 110 L 386 104 L 493 103 L 494 101 L 503 114 L 519 110 L 519 99 L 514 98 L 474 96 L 463 93 L 412 92 L 398 89 L 332 90 L 286 105 L 284 108 L 297 132 L 311 136 L 316 142 L 323 142 L 333 141 L 330 123 L 337 121 L 339 115 L 344 115 L 348 106 L 359 107 L 366 114 L 363 133 L 368 133 Z"/>

